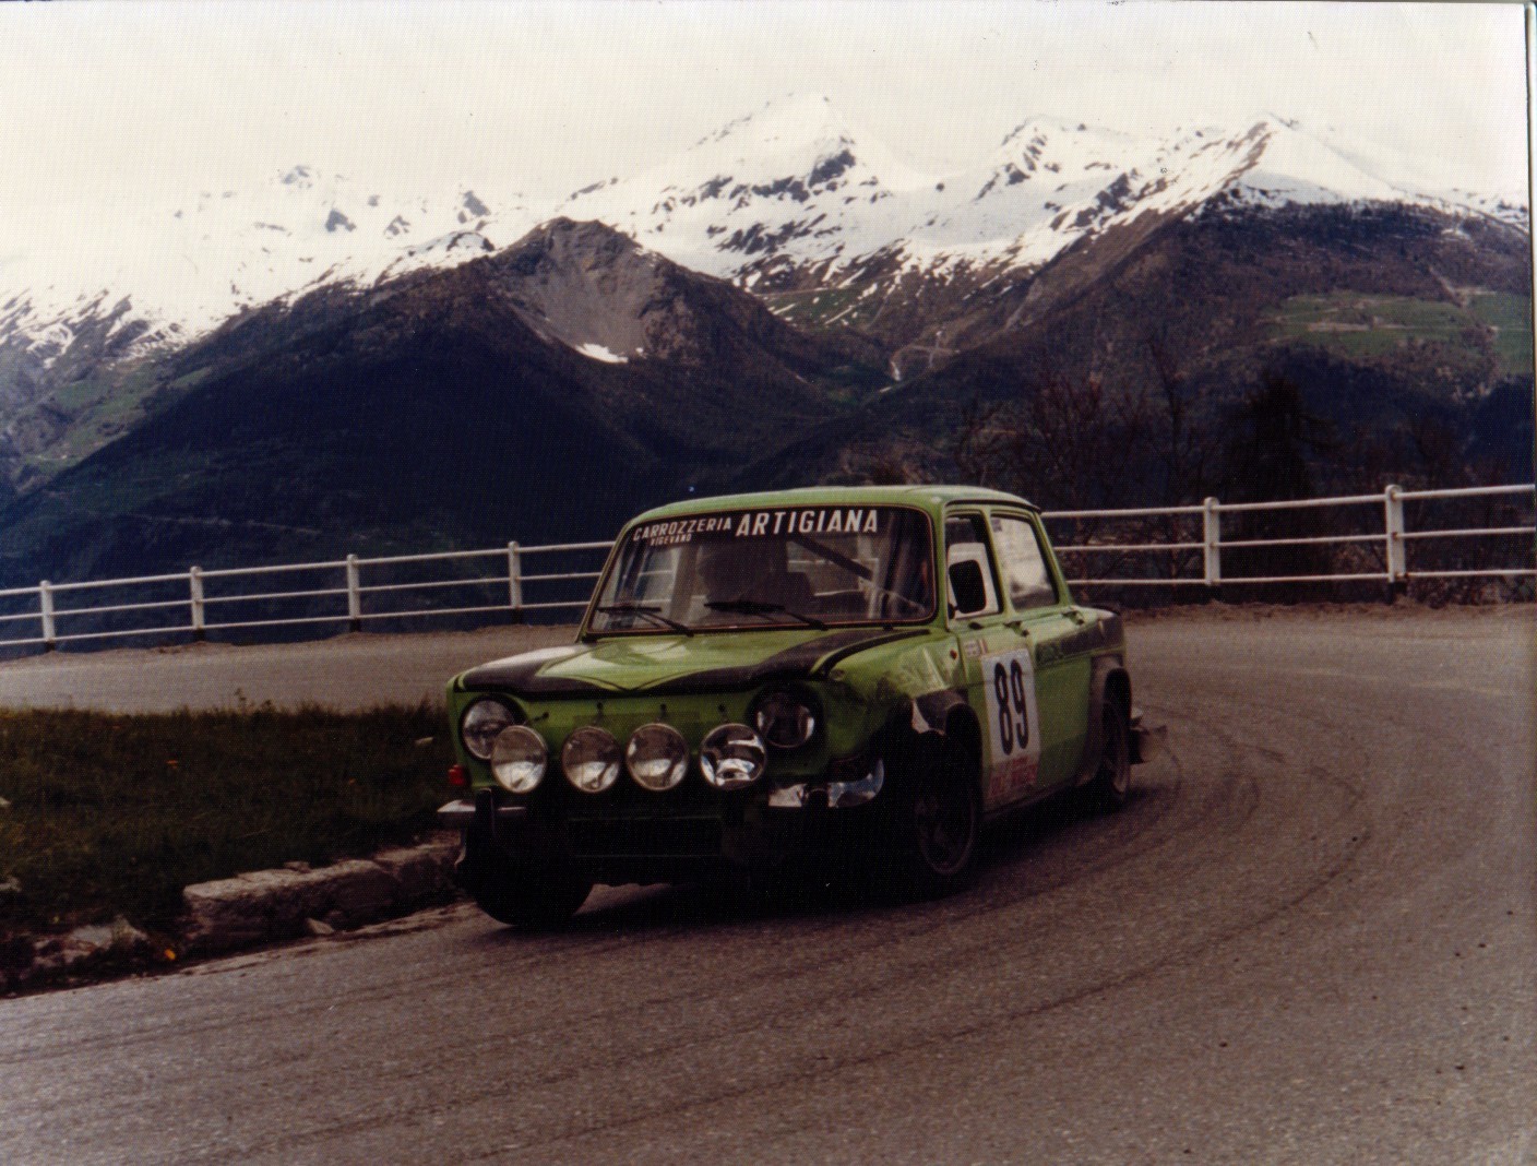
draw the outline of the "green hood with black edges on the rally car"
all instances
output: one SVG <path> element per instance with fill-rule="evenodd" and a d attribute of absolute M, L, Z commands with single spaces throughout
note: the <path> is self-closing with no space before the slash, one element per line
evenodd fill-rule
<path fill-rule="evenodd" d="M 464 673 L 458 687 L 520 696 L 699 693 L 825 674 L 856 651 L 927 628 L 776 628 L 695 636 L 613 636 L 527 651 Z"/>

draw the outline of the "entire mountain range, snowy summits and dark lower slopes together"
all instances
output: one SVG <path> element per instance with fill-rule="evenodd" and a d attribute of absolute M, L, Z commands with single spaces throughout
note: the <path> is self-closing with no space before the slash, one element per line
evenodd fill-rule
<path fill-rule="evenodd" d="M 1274 366 L 1354 386 L 1319 404 L 1331 416 L 1422 402 L 1459 449 L 1506 456 L 1514 446 L 1469 427 L 1529 378 L 1529 234 L 1365 161 L 1276 117 L 1167 138 L 1031 117 L 936 177 L 812 98 L 553 215 L 444 183 L 430 214 L 401 223 L 397 201 L 292 167 L 272 198 L 303 212 L 303 230 L 281 235 L 271 206 L 254 218 L 261 200 L 238 195 L 206 197 L 189 229 L 237 223 L 224 249 L 272 278 L 287 238 L 312 278 L 206 330 L 98 293 L 38 336 L 34 301 L 0 293 L 0 570 L 496 541 L 529 513 L 547 530 L 520 538 L 586 538 L 644 499 L 755 475 L 945 473 L 968 402 L 1028 410 L 1048 370 L 1107 386 L 1119 409 L 1159 390 L 1153 343 L 1211 424 Z M 306 429 L 278 401 L 334 427 Z M 483 410 L 518 473 L 433 401 Z M 509 409 L 538 416 L 520 427 Z M 360 461 L 344 416 L 409 472 Z M 443 487 L 456 442 L 504 498 L 470 505 Z M 606 496 L 550 489 L 564 465 Z M 294 496 L 275 499 L 258 473 Z M 194 536 L 218 521 L 240 538 Z M 347 532 L 366 545 L 343 547 Z"/>

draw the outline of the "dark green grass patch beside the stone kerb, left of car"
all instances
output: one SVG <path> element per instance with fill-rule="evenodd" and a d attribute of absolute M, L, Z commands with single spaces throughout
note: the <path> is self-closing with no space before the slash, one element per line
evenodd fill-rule
<path fill-rule="evenodd" d="M 404 842 L 450 764 L 429 705 L 0 711 L 0 934 L 117 914 L 164 929 L 191 883 Z"/>

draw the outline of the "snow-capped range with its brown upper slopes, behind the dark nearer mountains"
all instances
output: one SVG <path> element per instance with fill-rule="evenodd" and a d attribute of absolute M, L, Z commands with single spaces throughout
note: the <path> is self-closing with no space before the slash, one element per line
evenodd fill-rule
<path fill-rule="evenodd" d="M 500 252 L 555 218 L 606 223 L 790 323 L 856 332 L 902 379 L 1202 215 L 1406 204 L 1528 230 L 1517 200 L 1454 187 L 1426 158 L 1274 115 L 1171 135 L 1031 117 L 974 166 L 931 174 L 827 98 L 792 97 L 549 204 L 452 175 L 403 192 L 312 166 L 126 210 L 81 195 L 49 223 L 0 221 L 0 478 L 46 478 L 137 424 L 155 392 L 154 378 L 134 379 L 138 358 L 263 306 L 344 300 Z M 566 278 L 550 277 L 552 295 Z M 569 346 L 599 361 L 661 358 L 624 329 Z M 63 442 L 71 430 L 78 439 Z"/>

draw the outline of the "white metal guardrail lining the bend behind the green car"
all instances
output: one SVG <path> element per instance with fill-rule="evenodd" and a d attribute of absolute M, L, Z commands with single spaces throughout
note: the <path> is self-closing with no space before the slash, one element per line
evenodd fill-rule
<path fill-rule="evenodd" d="M 1200 587 L 1216 591 L 1227 587 L 1251 587 L 1260 584 L 1303 582 L 1369 582 L 1377 581 L 1402 588 L 1416 579 L 1537 579 L 1537 530 L 1531 519 L 1529 504 L 1537 498 L 1537 487 L 1489 485 L 1462 490 L 1400 490 L 1386 487 L 1380 495 L 1349 495 L 1342 498 L 1310 498 L 1290 502 L 1219 502 L 1208 498 L 1202 505 L 1140 507 L 1128 510 L 1056 510 L 1044 516 L 1053 525 L 1071 524 L 1073 539 L 1057 542 L 1057 555 L 1070 567 L 1074 587 Z M 1469 502 L 1472 499 L 1515 499 L 1514 507 L 1525 518 L 1509 519 L 1496 515 L 1485 525 L 1429 525 L 1408 522 L 1408 504 Z M 1254 516 L 1297 516 L 1302 513 L 1330 512 L 1331 524 L 1353 525 L 1346 530 L 1305 533 L 1299 530 L 1247 532 L 1243 524 L 1253 524 Z M 1373 513 L 1376 512 L 1376 515 Z M 1237 521 L 1223 522 L 1225 516 Z M 1416 515 L 1422 518 L 1420 513 Z M 1434 521 L 1431 515 L 1425 519 Z M 1452 515 L 1452 519 L 1463 518 Z M 1353 521 L 1351 521 L 1353 519 Z M 1477 516 L 1476 516 L 1477 519 Z M 1294 521 L 1291 525 L 1297 525 Z M 1111 535 L 1107 535 L 1107 528 Z M 1122 532 L 1113 536 L 1113 532 Z M 1127 532 L 1131 532 L 1130 536 Z M 1227 533 L 1225 533 L 1227 532 Z M 1157 538 L 1162 535 L 1162 538 Z M 1506 553 L 1520 562 L 1479 562 L 1463 565 L 1434 561 L 1411 562 L 1411 545 L 1431 542 L 1468 542 L 1474 539 L 1522 539 Z M 438 552 L 432 555 L 395 555 L 384 558 L 358 558 L 329 562 L 280 564 L 271 567 L 234 567 L 201 570 L 192 567 L 184 573 L 149 575 L 132 579 L 100 579 L 88 582 L 52 584 L 0 590 L 0 604 L 25 607 L 26 610 L 0 610 L 0 634 L 17 624 L 31 624 L 35 634 L 0 639 L 0 648 L 45 647 L 63 644 L 117 639 L 126 636 L 181 636 L 203 639 L 209 631 L 231 631 L 271 627 L 300 627 L 306 624 L 346 624 L 361 630 L 369 622 L 401 621 L 420 618 L 464 616 L 478 613 L 509 613 L 523 618 L 529 611 L 581 608 L 587 604 L 586 587 L 599 571 L 590 562 L 593 552 L 607 552 L 610 542 L 564 542 L 523 547 L 509 542 L 492 550 Z M 1320 552 L 1340 548 L 1345 552 L 1328 571 L 1282 571 L 1242 570 L 1242 559 L 1257 552 L 1296 548 Z M 541 570 L 529 573 L 526 559 L 569 559 L 586 556 L 573 570 Z M 1497 558 L 1496 556 L 1491 558 Z M 1306 558 L 1303 555 L 1303 558 Z M 1442 556 L 1445 559 L 1445 556 Z M 1268 559 L 1274 562 L 1274 558 Z M 1308 562 L 1322 562 L 1314 555 Z M 364 582 L 364 571 L 375 578 L 381 571 L 398 568 L 427 568 L 466 564 L 489 564 L 487 568 L 469 575 L 446 578 L 406 578 L 393 582 Z M 1260 559 L 1263 567 L 1265 559 Z M 1247 564 L 1253 567 L 1254 564 Z M 1294 564 L 1293 564 L 1294 565 Z M 506 571 L 506 573 L 503 573 Z M 1093 571 L 1093 573 L 1091 573 Z M 266 582 L 272 578 L 298 581 L 295 587 L 278 587 Z M 229 590 L 231 584 L 243 584 Z M 583 584 L 581 598 L 558 598 L 558 585 L 566 585 L 567 595 Z M 526 588 L 556 598 L 529 601 Z M 124 591 L 148 593 L 151 598 L 137 602 L 120 602 Z M 92 601 L 89 596 L 106 595 L 108 601 Z M 446 605 L 421 604 L 401 607 L 397 599 L 421 593 L 458 595 L 463 601 Z M 495 595 L 495 599 L 492 598 Z M 370 604 L 364 599 L 372 598 Z M 74 605 L 69 605 L 74 604 Z M 266 605 L 263 610 L 261 605 Z M 301 605 L 287 614 L 274 611 L 281 605 Z M 332 610 L 315 610 L 317 607 Z M 137 613 L 175 613 L 175 622 L 151 619 L 148 627 L 103 628 L 106 616 Z M 220 619 L 221 613 L 231 618 Z M 249 613 L 241 616 L 241 611 Z M 77 630 L 88 619 L 95 627 Z"/>

